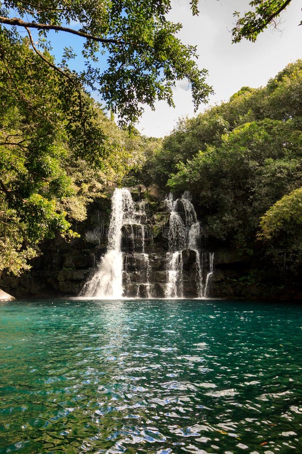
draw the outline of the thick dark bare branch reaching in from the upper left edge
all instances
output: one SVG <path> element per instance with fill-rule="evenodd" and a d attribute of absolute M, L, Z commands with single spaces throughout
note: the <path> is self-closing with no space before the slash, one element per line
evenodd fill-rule
<path fill-rule="evenodd" d="M 39 24 L 37 22 L 25 22 L 18 17 L 13 17 L 12 19 L 8 17 L 0 16 L 0 23 L 6 25 L 17 25 L 18 27 L 24 28 L 36 28 L 38 30 L 56 30 L 56 31 L 63 31 L 66 33 L 72 33 L 73 35 L 82 36 L 83 38 L 91 39 L 97 42 L 103 43 L 111 43 L 111 44 L 125 44 L 124 41 L 120 41 L 119 39 L 113 38 L 100 38 L 99 36 L 91 35 L 90 33 L 86 33 L 80 30 L 74 30 L 73 28 L 63 27 L 62 25 L 54 25 L 54 24 Z"/>

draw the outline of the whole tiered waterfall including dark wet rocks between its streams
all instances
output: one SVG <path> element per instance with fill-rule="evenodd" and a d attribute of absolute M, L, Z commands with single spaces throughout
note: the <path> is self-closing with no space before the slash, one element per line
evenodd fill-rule
<path fill-rule="evenodd" d="M 165 202 L 170 213 L 168 252 L 161 258 L 153 243 L 153 218 L 147 217 L 144 200 L 133 202 L 125 188 L 114 191 L 107 252 L 81 296 L 207 297 L 213 254 L 200 250 L 200 224 L 190 194 L 186 192 L 175 201 L 169 194 Z M 164 216 L 167 217 L 167 212 Z"/>

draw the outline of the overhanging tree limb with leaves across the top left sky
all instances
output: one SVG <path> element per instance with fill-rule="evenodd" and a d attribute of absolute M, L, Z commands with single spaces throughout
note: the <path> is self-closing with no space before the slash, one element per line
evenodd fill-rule
<path fill-rule="evenodd" d="M 196 5 L 197 0 L 192 0 L 193 14 L 198 12 Z M 0 8 L 0 23 L 26 30 L 41 58 L 33 29 L 39 32 L 38 47 L 42 50 L 50 50 L 50 30 L 83 38 L 85 70 L 79 74 L 68 70 L 68 61 L 74 58 L 70 48 L 65 49 L 60 64 L 51 62 L 51 66 L 70 83 L 79 78 L 90 88 L 98 85 L 102 99 L 118 113 L 121 122 L 134 123 L 144 103 L 154 107 L 156 99 L 165 99 L 173 105 L 177 80 L 189 80 L 196 108 L 212 92 L 205 82 L 207 71 L 200 70 L 195 62 L 196 47 L 184 45 L 176 37 L 181 24 L 166 19 L 170 9 L 170 0 L 7 0 Z M 104 70 L 99 51 L 107 60 Z"/>

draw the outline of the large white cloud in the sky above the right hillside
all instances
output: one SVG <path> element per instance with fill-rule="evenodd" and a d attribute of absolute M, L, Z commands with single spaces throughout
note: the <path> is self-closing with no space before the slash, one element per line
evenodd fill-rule
<path fill-rule="evenodd" d="M 248 9 L 248 0 L 202 0 L 200 15 L 193 17 L 188 0 L 174 0 L 169 18 L 182 22 L 179 37 L 186 44 L 197 45 L 200 68 L 209 71 L 207 82 L 215 94 L 209 105 L 228 100 L 242 86 L 263 86 L 288 63 L 301 58 L 302 28 L 299 2 L 288 7 L 279 25 L 281 31 L 267 29 L 256 43 L 242 41 L 232 44 L 233 12 Z M 163 101 L 156 110 L 146 107 L 137 129 L 148 136 L 164 136 L 181 116 L 193 116 L 194 108 L 187 82 L 181 81 L 174 90 L 175 109 Z M 199 109 L 202 111 L 204 106 Z"/>

